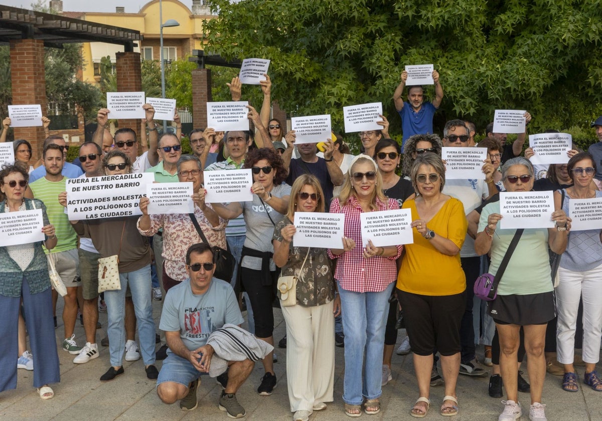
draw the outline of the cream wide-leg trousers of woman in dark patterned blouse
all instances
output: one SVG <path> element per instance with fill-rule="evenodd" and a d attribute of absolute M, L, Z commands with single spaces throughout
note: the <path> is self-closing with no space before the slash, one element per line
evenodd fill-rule
<path fill-rule="evenodd" d="M 291 412 L 332 402 L 335 375 L 334 302 L 282 307 L 287 322 L 287 382 Z"/>

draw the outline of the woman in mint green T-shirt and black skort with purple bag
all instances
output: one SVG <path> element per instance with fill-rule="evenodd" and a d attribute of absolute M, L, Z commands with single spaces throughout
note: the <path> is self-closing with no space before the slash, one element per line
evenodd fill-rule
<path fill-rule="evenodd" d="M 508 192 L 533 189 L 533 166 L 525 158 L 509 159 L 501 167 L 502 179 Z M 558 207 L 560 202 L 558 202 Z M 474 248 L 479 254 L 491 253 L 489 273 L 495 275 L 501 260 L 515 235 L 515 229 L 500 229 L 500 202 L 487 204 L 479 220 L 479 233 Z M 497 298 L 489 301 L 489 314 L 495 321 L 500 337 L 501 378 L 506 386 L 507 400 L 500 421 L 514 421 L 521 416 L 518 403 L 517 349 L 519 330 L 524 330 L 527 351 L 527 372 L 531 383 L 529 417 L 545 421 L 541 404 L 545 378 L 545 330 L 554 318 L 554 292 L 550 276 L 548 245 L 554 253 L 566 248 L 568 218 L 562 209 L 554 210 L 556 226 L 548 229 L 525 229 L 512 253 L 510 262 L 497 287 Z"/>

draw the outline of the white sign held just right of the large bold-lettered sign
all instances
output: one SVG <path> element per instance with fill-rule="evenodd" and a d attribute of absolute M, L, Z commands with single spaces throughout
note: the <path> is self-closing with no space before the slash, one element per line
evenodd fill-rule
<path fill-rule="evenodd" d="M 149 215 L 192 214 L 194 212 L 192 183 L 152 183 L 146 185 Z"/>

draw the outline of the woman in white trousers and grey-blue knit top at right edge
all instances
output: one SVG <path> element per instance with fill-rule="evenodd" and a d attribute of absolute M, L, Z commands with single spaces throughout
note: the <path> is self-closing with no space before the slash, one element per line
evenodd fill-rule
<path fill-rule="evenodd" d="M 571 200 L 602 197 L 602 192 L 592 188 L 596 173 L 594 158 L 589 153 L 578 153 L 566 165 L 574 185 L 565 188 L 562 210 L 569 214 Z M 562 194 L 554 192 L 556 209 L 560 209 Z M 569 214 L 569 216 L 571 216 Z M 602 244 L 600 229 L 571 231 L 568 245 L 558 268 L 560 284 L 556 288 L 557 358 L 564 364 L 562 389 L 577 392 L 579 385 L 575 373 L 574 344 L 579 300 L 583 299 L 583 383 L 602 392 L 602 380 L 595 371 L 600 360 L 602 337 Z"/>

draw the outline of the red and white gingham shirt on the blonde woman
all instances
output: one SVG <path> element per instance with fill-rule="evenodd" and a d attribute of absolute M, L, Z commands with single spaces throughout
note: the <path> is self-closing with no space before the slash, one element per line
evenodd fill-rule
<path fill-rule="evenodd" d="M 376 198 L 378 210 L 399 209 L 397 200 L 389 199 L 389 206 Z M 339 286 L 353 292 L 380 292 L 397 279 L 397 265 L 395 261 L 402 255 L 403 245 L 397 246 L 397 254 L 391 257 L 374 256 L 364 259 L 362 253 L 362 230 L 360 214 L 362 207 L 355 196 L 350 196 L 343 206 L 337 198 L 330 203 L 331 214 L 345 214 L 345 236 L 355 241 L 353 250 L 344 251 L 340 256 L 328 250 L 330 259 L 337 259 L 335 279 Z"/>

